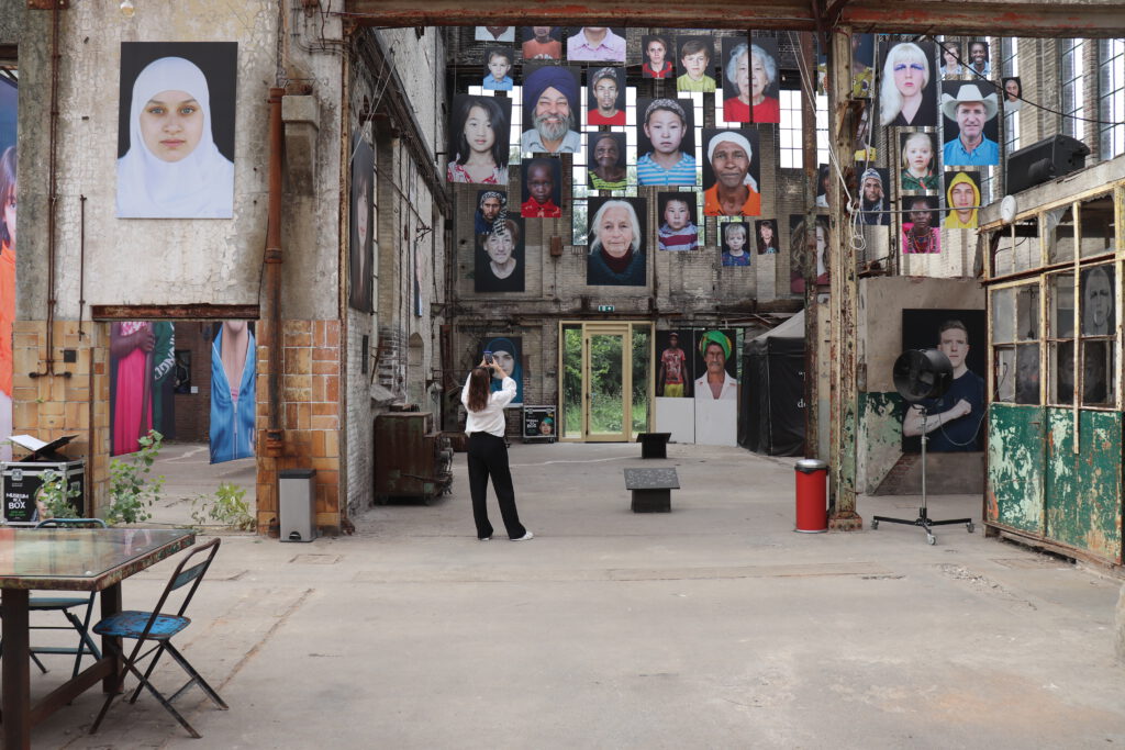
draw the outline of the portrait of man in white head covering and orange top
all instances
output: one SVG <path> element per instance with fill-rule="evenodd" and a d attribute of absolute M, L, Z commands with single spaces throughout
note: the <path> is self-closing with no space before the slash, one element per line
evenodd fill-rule
<path fill-rule="evenodd" d="M 703 130 L 714 184 L 703 191 L 704 216 L 757 216 L 762 213 L 758 181 L 752 174 L 754 130 Z M 708 174 L 704 172 L 703 182 Z"/>

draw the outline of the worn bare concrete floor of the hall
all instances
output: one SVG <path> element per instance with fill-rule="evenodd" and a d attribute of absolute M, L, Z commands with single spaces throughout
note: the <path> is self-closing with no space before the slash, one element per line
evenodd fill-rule
<path fill-rule="evenodd" d="M 354 536 L 227 535 L 181 641 L 231 711 L 181 698 L 194 741 L 144 696 L 91 738 L 88 693 L 35 747 L 1125 743 L 1120 581 L 979 524 L 934 546 L 906 526 L 793 533 L 792 461 L 740 449 L 669 446 L 645 464 L 678 470 L 673 513 L 634 515 L 621 470 L 638 455 L 513 444 L 530 542 L 475 539 L 464 454 L 451 496 L 371 508 Z M 912 518 L 917 498 L 860 512 Z M 979 522 L 980 498 L 934 497 L 930 515 Z M 169 569 L 128 579 L 125 606 L 151 604 Z"/>

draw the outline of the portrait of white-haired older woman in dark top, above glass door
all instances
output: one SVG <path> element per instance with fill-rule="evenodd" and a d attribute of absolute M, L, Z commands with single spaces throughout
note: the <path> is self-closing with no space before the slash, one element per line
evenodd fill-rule
<path fill-rule="evenodd" d="M 644 287 L 645 199 L 591 198 L 590 255 L 586 283 L 590 286 Z"/>

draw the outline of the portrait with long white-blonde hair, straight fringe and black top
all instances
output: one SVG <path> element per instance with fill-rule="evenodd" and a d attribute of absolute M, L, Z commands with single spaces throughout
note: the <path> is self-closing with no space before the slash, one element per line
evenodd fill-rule
<path fill-rule="evenodd" d="M 933 42 L 890 42 L 883 53 L 879 84 L 882 125 L 937 125 L 937 72 Z"/>

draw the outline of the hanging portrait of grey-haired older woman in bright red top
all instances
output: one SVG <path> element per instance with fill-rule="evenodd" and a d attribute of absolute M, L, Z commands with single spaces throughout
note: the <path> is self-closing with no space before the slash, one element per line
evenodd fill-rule
<path fill-rule="evenodd" d="M 722 118 L 727 123 L 780 123 L 777 43 L 774 39 L 723 39 Z M 752 117 L 753 116 L 753 117 Z"/>

